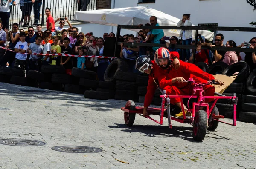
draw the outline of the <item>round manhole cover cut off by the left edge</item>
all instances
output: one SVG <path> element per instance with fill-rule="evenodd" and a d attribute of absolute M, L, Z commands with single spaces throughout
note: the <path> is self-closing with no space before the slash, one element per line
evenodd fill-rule
<path fill-rule="evenodd" d="M 37 140 L 23 140 L 23 139 L 2 139 L 0 144 L 9 146 L 44 146 L 46 143 Z"/>

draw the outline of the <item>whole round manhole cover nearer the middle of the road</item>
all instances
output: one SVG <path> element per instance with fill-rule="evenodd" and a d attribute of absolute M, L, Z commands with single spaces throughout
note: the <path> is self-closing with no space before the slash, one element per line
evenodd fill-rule
<path fill-rule="evenodd" d="M 86 146 L 55 146 L 55 147 L 52 147 L 52 149 L 59 152 L 74 152 L 74 153 L 102 152 L 102 149 L 95 148 L 95 147 L 86 147 Z"/>

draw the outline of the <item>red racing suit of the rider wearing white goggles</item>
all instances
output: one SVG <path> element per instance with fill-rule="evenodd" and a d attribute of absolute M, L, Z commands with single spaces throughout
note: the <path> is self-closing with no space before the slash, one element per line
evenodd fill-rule
<path fill-rule="evenodd" d="M 172 60 L 175 56 L 177 56 L 178 59 L 180 58 L 179 53 L 176 51 L 170 52 L 170 54 L 171 54 Z M 157 65 L 157 63 L 154 62 L 154 60 L 152 60 L 152 64 L 153 64 L 153 69 L 151 71 L 151 74 L 148 75 L 149 79 L 148 79 L 147 93 L 145 95 L 145 100 L 144 100 L 144 107 L 149 107 L 153 100 L 154 92 L 157 89 L 157 84 L 154 82 L 154 80 L 157 82 L 156 72 L 159 72 L 158 69 L 161 69 Z"/>

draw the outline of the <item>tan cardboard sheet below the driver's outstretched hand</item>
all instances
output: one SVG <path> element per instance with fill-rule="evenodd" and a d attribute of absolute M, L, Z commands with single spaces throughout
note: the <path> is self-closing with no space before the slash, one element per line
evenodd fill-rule
<path fill-rule="evenodd" d="M 222 74 L 216 74 L 213 75 L 215 77 L 215 79 L 221 80 L 222 82 L 224 82 L 223 86 L 220 85 L 212 85 L 215 87 L 215 92 L 218 92 L 220 94 L 222 94 L 225 89 L 227 89 L 228 86 L 230 86 L 230 84 L 236 79 L 236 76 L 226 76 L 226 75 L 222 75 Z"/>

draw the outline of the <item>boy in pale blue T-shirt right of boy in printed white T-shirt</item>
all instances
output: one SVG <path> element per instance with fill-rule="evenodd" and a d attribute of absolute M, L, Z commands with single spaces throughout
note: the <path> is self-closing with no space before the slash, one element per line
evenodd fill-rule
<path fill-rule="evenodd" d="M 30 54 L 29 58 L 29 70 L 37 70 L 40 71 L 41 68 L 41 55 L 32 54 L 32 53 L 43 53 L 44 46 L 41 45 L 43 37 L 36 36 L 35 42 L 29 45 L 27 52 Z"/>

